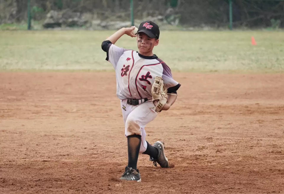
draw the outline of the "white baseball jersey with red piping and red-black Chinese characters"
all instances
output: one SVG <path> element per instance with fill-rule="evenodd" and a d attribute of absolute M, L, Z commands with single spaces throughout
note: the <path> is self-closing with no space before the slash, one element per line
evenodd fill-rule
<path fill-rule="evenodd" d="M 172 78 L 170 68 L 154 56 L 143 56 L 136 51 L 108 44 L 107 57 L 116 72 L 119 99 L 152 98 L 151 88 L 156 76 L 161 76 L 168 93 L 176 93 L 180 84 Z"/>

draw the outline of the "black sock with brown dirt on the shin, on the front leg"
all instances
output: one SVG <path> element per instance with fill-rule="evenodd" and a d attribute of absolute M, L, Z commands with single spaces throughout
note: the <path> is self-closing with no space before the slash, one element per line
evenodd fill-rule
<path fill-rule="evenodd" d="M 128 167 L 137 169 L 138 155 L 141 145 L 141 135 L 130 135 L 127 137 L 128 145 Z"/>

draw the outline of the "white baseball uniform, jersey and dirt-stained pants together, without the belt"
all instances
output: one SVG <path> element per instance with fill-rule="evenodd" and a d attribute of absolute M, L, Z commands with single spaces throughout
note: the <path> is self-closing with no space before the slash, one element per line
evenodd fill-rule
<path fill-rule="evenodd" d="M 157 114 L 151 102 L 151 88 L 156 76 L 161 76 L 168 93 L 176 93 L 180 84 L 172 78 L 170 68 L 156 55 L 143 56 L 136 51 L 120 48 L 110 41 L 102 43 L 106 60 L 112 63 L 116 73 L 117 96 L 120 99 L 125 124 L 125 136 L 141 135 L 140 153 L 147 149 L 145 126 Z M 128 98 L 148 98 L 140 105 L 128 104 Z M 142 102 L 142 100 L 141 100 Z"/>

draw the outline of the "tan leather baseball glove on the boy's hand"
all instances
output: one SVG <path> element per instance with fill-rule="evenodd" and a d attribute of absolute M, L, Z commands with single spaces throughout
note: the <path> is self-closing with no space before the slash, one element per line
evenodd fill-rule
<path fill-rule="evenodd" d="M 162 77 L 156 76 L 151 89 L 152 101 L 155 105 L 156 112 L 161 112 L 164 105 L 167 103 L 167 89 L 165 88 Z"/>

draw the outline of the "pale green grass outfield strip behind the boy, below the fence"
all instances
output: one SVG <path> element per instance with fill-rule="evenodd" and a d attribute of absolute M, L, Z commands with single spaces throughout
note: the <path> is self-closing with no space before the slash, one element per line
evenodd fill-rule
<path fill-rule="evenodd" d="M 112 70 L 101 50 L 112 33 L 0 31 L 0 70 Z M 116 45 L 137 50 L 126 35 Z M 284 72 L 284 31 L 162 31 L 154 53 L 174 71 Z"/>

